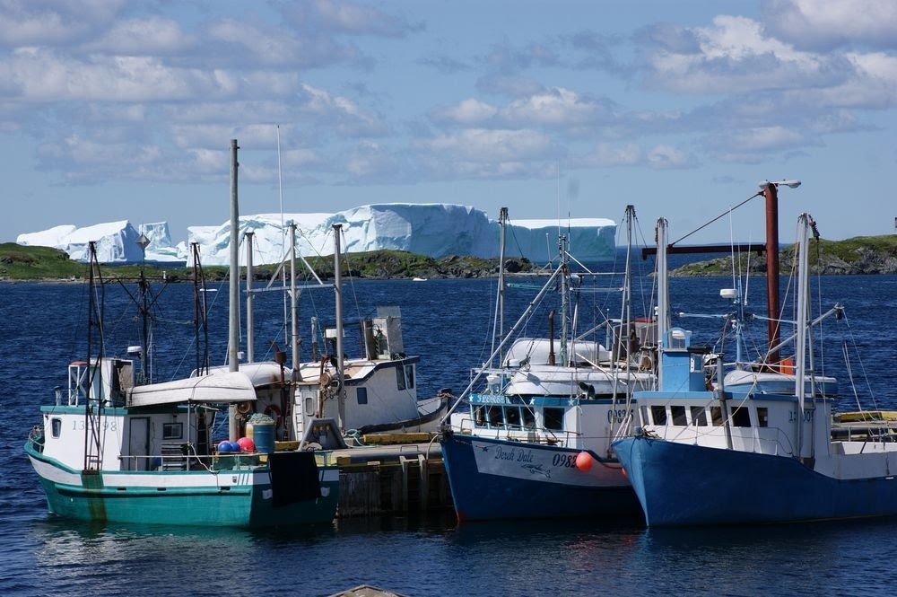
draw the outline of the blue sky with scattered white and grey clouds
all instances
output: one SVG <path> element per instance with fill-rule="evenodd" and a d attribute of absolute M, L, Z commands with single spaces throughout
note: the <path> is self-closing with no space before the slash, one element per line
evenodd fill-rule
<path fill-rule="evenodd" d="M 897 3 L 0 0 L 0 241 L 457 203 L 894 232 Z M 730 233 L 730 230 L 735 231 Z M 754 199 L 693 241 L 760 241 Z"/>

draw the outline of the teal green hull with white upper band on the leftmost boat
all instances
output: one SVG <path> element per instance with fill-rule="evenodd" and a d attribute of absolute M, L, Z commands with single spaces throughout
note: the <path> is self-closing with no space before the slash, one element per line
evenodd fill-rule
<path fill-rule="evenodd" d="M 335 467 L 318 467 L 317 486 L 297 492 L 289 486 L 308 478 L 281 475 L 275 487 L 270 466 L 84 472 L 43 456 L 30 444 L 25 452 L 39 475 L 49 512 L 83 521 L 233 527 L 319 524 L 333 521 L 339 496 Z"/>

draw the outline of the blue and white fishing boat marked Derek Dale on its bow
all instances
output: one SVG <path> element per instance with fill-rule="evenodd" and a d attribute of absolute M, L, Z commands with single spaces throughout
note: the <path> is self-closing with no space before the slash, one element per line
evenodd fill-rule
<path fill-rule="evenodd" d="M 633 216 L 629 206 L 630 232 Z M 440 438 L 460 521 L 640 517 L 610 444 L 629 433 L 632 391 L 654 383 L 654 324 L 629 317 L 627 259 L 621 319 L 604 320 L 584 334 L 571 331 L 568 318 L 577 318 L 566 307 L 568 294 L 580 289 L 568 286 L 563 239 L 559 253 L 558 268 L 493 350 L 490 362 L 505 352 L 501 366 L 476 370 Z M 501 300 L 501 277 L 499 284 Z M 560 338 L 551 323 L 548 338 L 516 338 L 520 325 L 556 287 L 562 299 Z M 606 330 L 605 344 L 588 339 L 597 329 Z M 510 338 L 516 339 L 511 343 Z M 483 388 L 471 391 L 483 378 Z"/>

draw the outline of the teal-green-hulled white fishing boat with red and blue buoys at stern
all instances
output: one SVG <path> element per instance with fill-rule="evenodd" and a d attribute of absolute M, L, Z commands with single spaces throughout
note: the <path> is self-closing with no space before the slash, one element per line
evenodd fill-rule
<path fill-rule="evenodd" d="M 236 168 L 236 141 L 231 149 Z M 90 255 L 92 287 L 93 242 Z M 101 329 L 101 311 L 91 300 L 89 329 Z M 268 380 L 230 371 L 141 385 L 134 361 L 102 356 L 101 338 L 87 337 L 87 359 L 68 365 L 67 393 L 57 389 L 55 404 L 40 408 L 41 424 L 24 447 L 51 513 L 238 527 L 333 520 L 339 471 L 318 463 L 325 454 L 275 451 L 273 425 L 263 421 L 252 438 L 213 445 L 215 405 L 247 408 L 267 394 Z M 90 354 L 94 347 L 98 356 Z"/>

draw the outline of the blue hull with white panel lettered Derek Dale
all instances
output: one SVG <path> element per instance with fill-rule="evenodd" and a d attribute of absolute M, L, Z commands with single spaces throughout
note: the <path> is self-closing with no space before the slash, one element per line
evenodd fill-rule
<path fill-rule="evenodd" d="M 594 453 L 576 468 L 579 450 L 446 433 L 441 440 L 459 521 L 568 516 L 631 516 L 638 499 L 616 461 Z"/>

